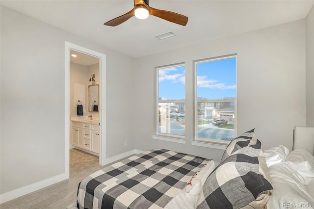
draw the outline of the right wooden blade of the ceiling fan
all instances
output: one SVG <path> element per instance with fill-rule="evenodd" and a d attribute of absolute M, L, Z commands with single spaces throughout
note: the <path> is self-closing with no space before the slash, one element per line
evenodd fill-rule
<path fill-rule="evenodd" d="M 179 24 L 181 26 L 185 26 L 187 24 L 188 18 L 184 15 L 181 15 L 175 12 L 166 11 L 166 10 L 155 9 L 148 5 L 145 5 L 145 6 L 149 9 L 150 15 L 154 15 L 158 18 L 162 18 L 164 20 Z"/>

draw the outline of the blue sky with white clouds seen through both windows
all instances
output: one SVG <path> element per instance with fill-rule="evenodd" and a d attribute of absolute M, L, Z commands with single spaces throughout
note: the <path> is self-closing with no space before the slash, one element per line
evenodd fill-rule
<path fill-rule="evenodd" d="M 235 58 L 197 64 L 197 97 L 235 97 Z M 185 66 L 159 69 L 158 95 L 168 100 L 185 98 Z"/>

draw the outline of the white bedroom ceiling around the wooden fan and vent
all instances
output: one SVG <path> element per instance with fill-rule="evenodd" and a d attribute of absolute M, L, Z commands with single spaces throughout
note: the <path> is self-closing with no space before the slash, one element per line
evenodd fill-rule
<path fill-rule="evenodd" d="M 0 4 L 107 48 L 140 57 L 304 19 L 314 0 L 150 0 L 187 16 L 186 26 L 149 16 L 103 24 L 131 10 L 133 0 L 1 0 Z M 173 31 L 158 41 L 154 36 Z"/>

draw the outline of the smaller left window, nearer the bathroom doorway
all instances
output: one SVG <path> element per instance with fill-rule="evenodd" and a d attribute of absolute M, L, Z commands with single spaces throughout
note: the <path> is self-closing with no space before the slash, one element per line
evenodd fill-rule
<path fill-rule="evenodd" d="M 185 66 L 157 68 L 157 135 L 185 135 Z"/>

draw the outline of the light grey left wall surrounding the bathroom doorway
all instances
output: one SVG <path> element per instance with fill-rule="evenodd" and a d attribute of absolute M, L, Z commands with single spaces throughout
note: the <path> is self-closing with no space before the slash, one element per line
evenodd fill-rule
<path fill-rule="evenodd" d="M 134 59 L 0 8 L 1 196 L 65 172 L 65 41 L 106 54 L 106 157 L 134 149 Z"/>

